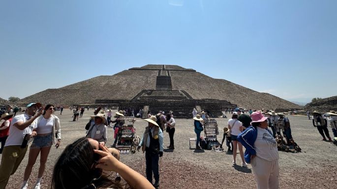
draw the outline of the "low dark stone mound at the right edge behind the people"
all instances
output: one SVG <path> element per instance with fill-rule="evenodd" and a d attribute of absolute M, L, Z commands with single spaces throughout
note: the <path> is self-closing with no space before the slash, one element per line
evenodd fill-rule
<path fill-rule="evenodd" d="M 310 111 L 317 110 L 321 112 L 328 112 L 330 110 L 337 110 L 337 96 L 332 96 L 318 100 L 316 102 L 311 102 L 306 104 L 304 107 Z"/>

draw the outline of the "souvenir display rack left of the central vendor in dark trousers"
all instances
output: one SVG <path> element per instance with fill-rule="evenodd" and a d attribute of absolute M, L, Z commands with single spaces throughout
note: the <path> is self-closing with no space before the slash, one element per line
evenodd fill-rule
<path fill-rule="evenodd" d="M 118 130 L 118 142 L 116 148 L 121 154 L 134 154 L 139 143 L 135 136 L 136 128 L 133 126 L 135 119 L 133 116 L 119 117 L 119 119 L 123 122 L 123 126 L 120 126 Z"/>

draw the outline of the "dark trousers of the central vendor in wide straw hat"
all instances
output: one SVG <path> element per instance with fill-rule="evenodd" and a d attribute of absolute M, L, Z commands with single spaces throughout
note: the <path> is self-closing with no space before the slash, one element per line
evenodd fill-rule
<path fill-rule="evenodd" d="M 153 153 L 149 150 L 149 148 L 146 148 L 145 160 L 146 160 L 146 178 L 151 184 L 153 184 L 152 182 L 152 173 L 153 173 L 154 181 L 156 183 L 159 183 L 159 154 Z"/>

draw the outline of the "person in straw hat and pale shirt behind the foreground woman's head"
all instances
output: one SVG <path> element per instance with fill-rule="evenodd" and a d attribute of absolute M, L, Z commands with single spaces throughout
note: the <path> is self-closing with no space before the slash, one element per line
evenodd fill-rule
<path fill-rule="evenodd" d="M 89 128 L 86 137 L 95 139 L 99 143 L 102 143 L 103 145 L 105 145 L 108 134 L 107 134 L 107 129 L 105 125 L 106 120 L 104 118 L 104 115 L 101 113 L 97 113 L 96 115 L 93 115 L 91 117 L 94 119 L 95 124 L 93 124 Z"/>

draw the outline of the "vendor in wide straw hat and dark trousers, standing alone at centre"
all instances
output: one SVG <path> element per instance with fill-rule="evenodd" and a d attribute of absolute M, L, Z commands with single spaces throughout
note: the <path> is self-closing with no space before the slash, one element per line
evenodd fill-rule
<path fill-rule="evenodd" d="M 157 118 L 151 116 L 150 119 L 144 119 L 149 125 L 145 128 L 144 135 L 140 141 L 137 150 L 142 148 L 143 153 L 145 152 L 146 160 L 146 178 L 152 184 L 154 177 L 155 188 L 159 187 L 159 157 L 163 156 L 163 132 L 161 131 L 159 125 L 156 123 Z"/>

